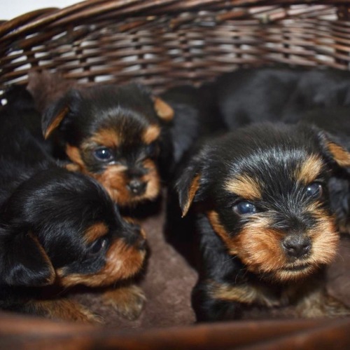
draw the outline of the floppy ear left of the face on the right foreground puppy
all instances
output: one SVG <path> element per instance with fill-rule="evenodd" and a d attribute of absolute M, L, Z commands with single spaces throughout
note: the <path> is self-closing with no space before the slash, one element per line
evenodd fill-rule
<path fill-rule="evenodd" d="M 176 190 L 179 194 L 179 204 L 183 217 L 188 213 L 195 195 L 201 187 L 201 180 L 202 160 L 200 157 L 195 157 L 195 159 L 190 161 L 190 165 L 185 168 L 176 182 Z"/>

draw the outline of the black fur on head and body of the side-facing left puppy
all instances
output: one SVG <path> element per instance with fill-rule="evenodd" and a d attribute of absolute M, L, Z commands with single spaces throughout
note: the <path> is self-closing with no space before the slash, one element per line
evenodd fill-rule
<path fill-rule="evenodd" d="M 5 97 L 8 104 L 0 110 L 0 307 L 45 314 L 32 302 L 64 297 L 57 269 L 64 269 L 64 276 L 98 274 L 113 241 L 123 239 L 143 250 L 144 238 L 137 225 L 120 217 L 100 184 L 60 167 L 43 149 L 36 133 L 41 116 L 27 91 L 15 87 Z M 106 235 L 85 241 L 87 229 L 101 223 Z"/>

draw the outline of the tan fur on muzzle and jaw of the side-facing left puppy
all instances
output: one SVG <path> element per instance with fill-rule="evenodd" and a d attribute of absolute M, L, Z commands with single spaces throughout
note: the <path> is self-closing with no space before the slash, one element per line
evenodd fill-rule
<path fill-rule="evenodd" d="M 129 278 L 141 269 L 146 252 L 127 245 L 123 239 L 111 244 L 106 254 L 106 264 L 94 274 L 69 274 L 64 268 L 57 270 L 57 282 L 64 287 L 83 284 L 90 287 L 108 286 L 121 279 Z"/>

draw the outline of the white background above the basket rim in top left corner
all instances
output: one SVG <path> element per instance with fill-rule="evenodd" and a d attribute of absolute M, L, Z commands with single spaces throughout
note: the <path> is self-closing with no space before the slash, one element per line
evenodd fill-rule
<path fill-rule="evenodd" d="M 0 0 L 0 20 L 10 20 L 40 8 L 64 8 L 81 0 Z"/>

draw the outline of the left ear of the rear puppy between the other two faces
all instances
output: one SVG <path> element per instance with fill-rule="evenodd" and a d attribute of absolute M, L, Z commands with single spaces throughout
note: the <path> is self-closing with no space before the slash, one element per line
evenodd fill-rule
<path fill-rule="evenodd" d="M 41 129 L 43 130 L 45 140 L 61 125 L 62 121 L 71 111 L 71 103 L 78 99 L 80 99 L 79 91 L 71 89 L 66 95 L 46 109 L 41 119 Z"/>

